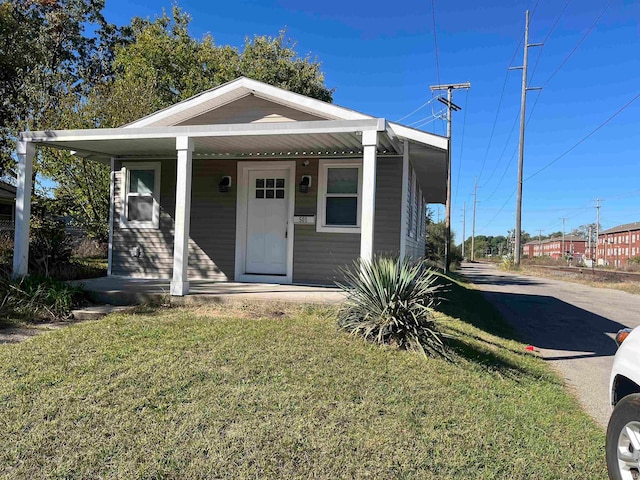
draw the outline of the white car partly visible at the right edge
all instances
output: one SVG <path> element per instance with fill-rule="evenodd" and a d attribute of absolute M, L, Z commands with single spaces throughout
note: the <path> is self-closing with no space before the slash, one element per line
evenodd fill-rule
<path fill-rule="evenodd" d="M 620 346 L 611 370 L 607 470 L 611 480 L 640 480 L 640 327 L 616 335 Z"/>

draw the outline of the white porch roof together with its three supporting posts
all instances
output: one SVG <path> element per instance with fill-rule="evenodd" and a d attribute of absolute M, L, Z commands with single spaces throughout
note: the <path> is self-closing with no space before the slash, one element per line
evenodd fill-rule
<path fill-rule="evenodd" d="M 430 193 L 442 196 L 440 173 L 445 170 L 443 150 L 431 148 L 434 136 L 424 133 L 424 143 L 400 137 L 406 127 L 388 123 L 385 119 L 323 120 L 290 123 L 225 124 L 197 126 L 163 126 L 92 130 L 25 132 L 18 144 L 18 186 L 16 200 L 16 230 L 13 273 L 27 274 L 28 241 L 31 204 L 31 179 L 36 146 L 74 151 L 76 155 L 99 162 L 111 163 L 111 218 L 109 274 L 113 257 L 113 226 L 117 199 L 116 162 L 175 159 L 175 214 L 172 279 L 169 293 L 183 296 L 190 292 L 188 278 L 189 239 L 191 222 L 192 175 L 194 158 L 203 161 L 232 160 L 278 162 L 301 158 L 357 158 L 362 162 L 361 224 L 359 226 L 359 256 L 370 259 L 374 253 L 376 208 L 376 165 L 384 156 L 402 157 L 409 163 L 412 149 L 415 171 L 431 183 Z M 406 133 L 406 132 L 403 132 Z M 411 131 L 411 136 L 422 132 Z M 422 140 L 422 139 L 420 139 Z M 436 140 L 440 140 L 436 138 Z M 443 142 L 442 142 L 443 143 Z M 428 146 L 425 146 L 428 145 Z M 440 145 L 439 145 L 440 146 Z M 442 147 L 446 147 L 443 143 Z M 416 160 L 423 160 L 416 162 Z M 297 188 L 295 176 L 295 185 Z M 406 179 L 403 181 L 406 182 Z M 216 185 L 217 187 L 217 185 Z M 380 201 L 380 199 L 378 199 Z M 290 211 L 289 238 L 293 238 L 293 211 Z M 116 217 L 114 219 L 114 217 Z M 400 246 L 402 254 L 402 245 Z M 236 259 L 237 262 L 237 259 Z M 293 283 L 289 271 L 284 282 Z M 229 278 L 230 280 L 232 278 Z M 235 280 L 246 281 L 238 277 Z M 256 279 L 255 281 L 263 281 Z M 274 282 L 280 283 L 280 282 Z"/>

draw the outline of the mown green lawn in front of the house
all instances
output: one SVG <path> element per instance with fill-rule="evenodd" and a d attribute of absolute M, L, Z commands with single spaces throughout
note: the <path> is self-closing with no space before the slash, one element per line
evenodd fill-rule
<path fill-rule="evenodd" d="M 562 382 L 478 292 L 449 290 L 454 361 L 341 333 L 329 307 L 264 304 L 2 346 L 0 474 L 605 478 L 604 433 Z"/>

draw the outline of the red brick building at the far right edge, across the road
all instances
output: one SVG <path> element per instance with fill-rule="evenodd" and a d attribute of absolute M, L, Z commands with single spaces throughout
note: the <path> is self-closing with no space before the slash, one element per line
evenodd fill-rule
<path fill-rule="evenodd" d="M 640 257 L 640 222 L 625 223 L 598 235 L 598 265 L 624 267 Z"/>

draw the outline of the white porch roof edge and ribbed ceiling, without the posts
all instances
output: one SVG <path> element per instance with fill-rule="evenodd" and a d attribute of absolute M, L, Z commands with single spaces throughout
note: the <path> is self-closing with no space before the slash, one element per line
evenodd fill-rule
<path fill-rule="evenodd" d="M 282 158 L 353 156 L 362 153 L 362 132 L 378 132 L 379 154 L 402 154 L 409 142 L 410 160 L 429 203 L 446 199 L 446 138 L 413 130 L 382 118 L 286 123 L 104 128 L 23 132 L 37 145 L 75 151 L 100 162 L 111 158 L 171 158 L 176 138 L 193 139 L 195 158 Z"/>

